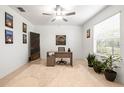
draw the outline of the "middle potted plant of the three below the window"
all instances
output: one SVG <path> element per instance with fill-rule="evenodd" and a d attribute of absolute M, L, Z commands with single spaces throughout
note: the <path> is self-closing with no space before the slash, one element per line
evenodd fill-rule
<path fill-rule="evenodd" d="M 95 59 L 94 62 L 93 62 L 93 69 L 96 73 L 101 73 L 102 71 L 102 62 Z"/>

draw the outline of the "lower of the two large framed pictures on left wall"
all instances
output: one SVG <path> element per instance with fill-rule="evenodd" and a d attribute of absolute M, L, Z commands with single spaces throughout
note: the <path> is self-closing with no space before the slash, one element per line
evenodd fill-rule
<path fill-rule="evenodd" d="M 5 43 L 6 44 L 13 43 L 13 31 L 5 30 Z"/>

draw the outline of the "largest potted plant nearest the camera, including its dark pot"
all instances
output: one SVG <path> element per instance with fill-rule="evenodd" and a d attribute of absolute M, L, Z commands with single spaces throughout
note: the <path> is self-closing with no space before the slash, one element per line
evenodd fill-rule
<path fill-rule="evenodd" d="M 105 71 L 104 71 L 104 75 L 105 78 L 109 81 L 114 81 L 116 76 L 117 76 L 117 72 L 114 71 L 114 68 L 118 68 L 118 66 L 113 65 L 114 62 L 120 62 L 120 58 L 114 58 L 113 56 L 109 56 L 108 58 L 105 59 Z"/>

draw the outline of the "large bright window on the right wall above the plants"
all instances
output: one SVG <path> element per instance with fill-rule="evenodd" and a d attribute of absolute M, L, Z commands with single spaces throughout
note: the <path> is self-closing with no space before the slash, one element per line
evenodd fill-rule
<path fill-rule="evenodd" d="M 94 26 L 94 52 L 120 56 L 120 13 Z"/>

